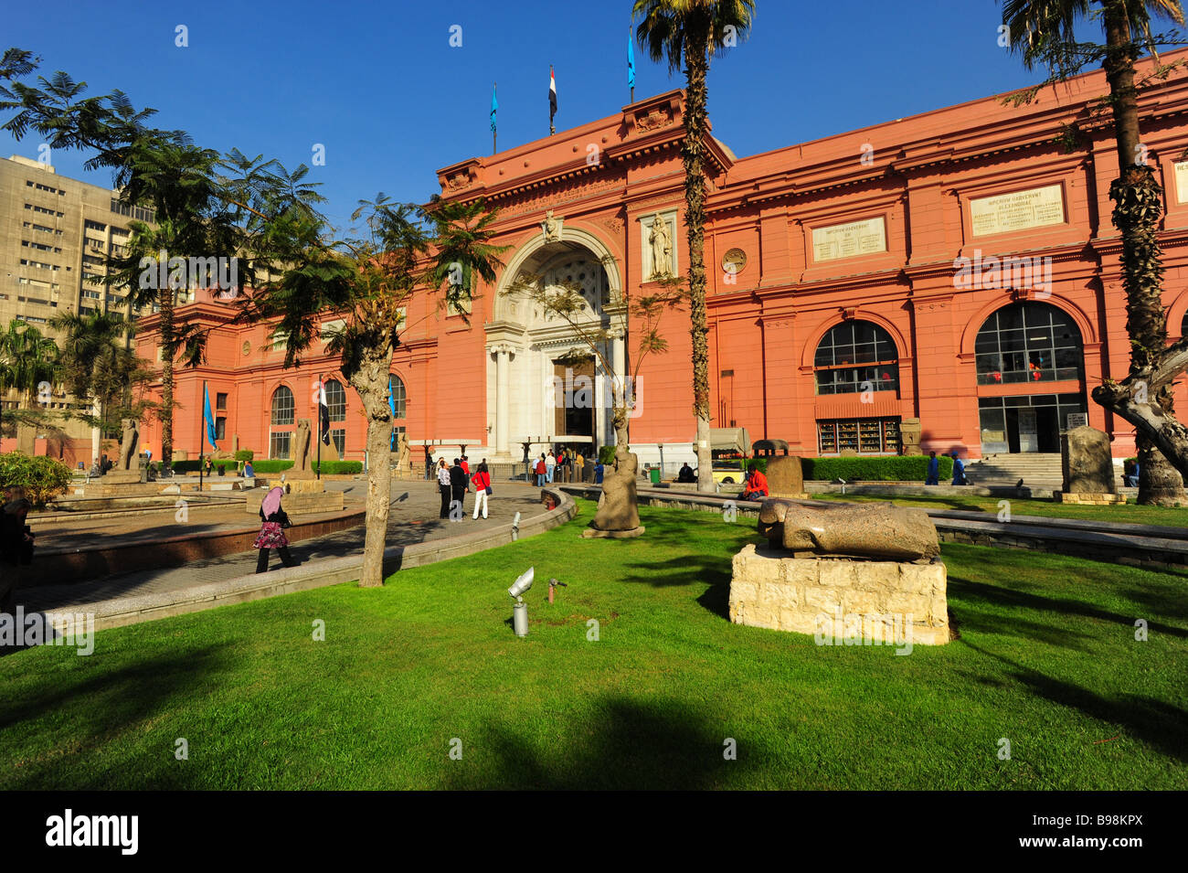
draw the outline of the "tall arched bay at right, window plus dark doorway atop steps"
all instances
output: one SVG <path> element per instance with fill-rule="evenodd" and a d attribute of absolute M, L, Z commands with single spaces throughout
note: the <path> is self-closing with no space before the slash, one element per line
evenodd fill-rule
<path fill-rule="evenodd" d="M 1060 434 L 1088 424 L 1081 331 L 1047 303 L 991 314 L 974 341 L 984 454 L 1060 451 Z"/>

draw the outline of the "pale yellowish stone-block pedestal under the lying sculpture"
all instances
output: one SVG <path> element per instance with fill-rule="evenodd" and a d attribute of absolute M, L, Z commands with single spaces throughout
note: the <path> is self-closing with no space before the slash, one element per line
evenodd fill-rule
<path fill-rule="evenodd" d="M 939 559 L 794 558 L 752 544 L 734 556 L 733 570 L 729 616 L 737 625 L 814 634 L 827 645 L 910 650 L 952 639 L 948 575 Z"/>

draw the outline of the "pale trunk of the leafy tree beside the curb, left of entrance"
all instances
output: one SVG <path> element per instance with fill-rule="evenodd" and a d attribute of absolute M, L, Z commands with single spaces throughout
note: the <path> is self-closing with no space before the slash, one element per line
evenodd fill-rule
<path fill-rule="evenodd" d="M 350 375 L 367 416 L 367 533 L 364 539 L 364 568 L 360 588 L 384 584 L 384 548 L 387 544 L 387 517 L 392 499 L 392 410 L 387 404 L 387 379 L 392 349 L 364 352 L 362 366 Z"/>

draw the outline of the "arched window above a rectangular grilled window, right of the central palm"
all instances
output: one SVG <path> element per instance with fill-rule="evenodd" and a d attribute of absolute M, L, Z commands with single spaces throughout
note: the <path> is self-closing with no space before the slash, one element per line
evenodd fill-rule
<path fill-rule="evenodd" d="M 821 337 L 813 359 L 817 393 L 897 391 L 898 361 L 899 353 L 891 334 L 878 324 L 865 321 L 842 322 Z"/>

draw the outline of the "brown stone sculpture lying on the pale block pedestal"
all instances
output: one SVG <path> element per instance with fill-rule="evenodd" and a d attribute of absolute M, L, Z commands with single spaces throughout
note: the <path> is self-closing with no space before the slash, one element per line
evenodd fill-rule
<path fill-rule="evenodd" d="M 759 510 L 759 533 L 796 557 L 931 561 L 941 553 L 928 513 L 891 502 L 823 507 L 769 499 Z"/>

